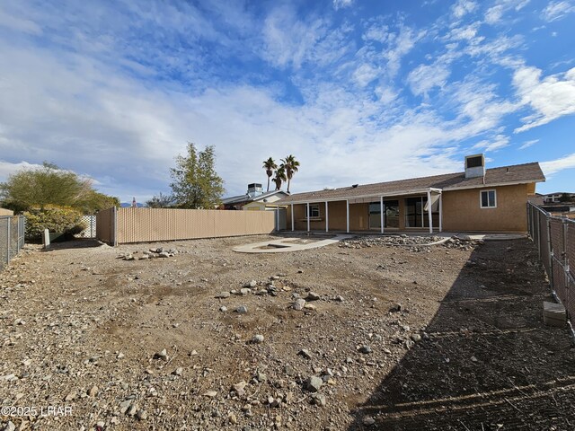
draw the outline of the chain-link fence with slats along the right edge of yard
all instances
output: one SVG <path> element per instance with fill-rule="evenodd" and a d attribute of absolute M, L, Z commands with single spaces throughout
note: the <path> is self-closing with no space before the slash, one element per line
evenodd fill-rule
<path fill-rule="evenodd" d="M 575 220 L 527 204 L 529 234 L 537 245 L 551 288 L 575 321 Z M 573 267 L 570 267 L 572 262 Z"/>

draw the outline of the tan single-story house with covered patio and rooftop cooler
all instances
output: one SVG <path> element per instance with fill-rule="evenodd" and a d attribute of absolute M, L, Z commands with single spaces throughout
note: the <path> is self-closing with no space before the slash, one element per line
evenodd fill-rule
<path fill-rule="evenodd" d="M 289 195 L 288 228 L 298 231 L 526 232 L 527 199 L 545 177 L 539 163 L 485 169 L 483 154 L 464 172 Z"/>

